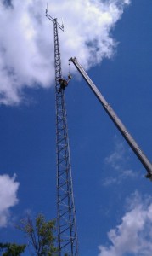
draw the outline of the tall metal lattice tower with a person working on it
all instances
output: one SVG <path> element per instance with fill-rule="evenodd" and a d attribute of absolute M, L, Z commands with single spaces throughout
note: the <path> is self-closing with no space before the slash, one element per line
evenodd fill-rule
<path fill-rule="evenodd" d="M 70 166 L 70 148 L 65 109 L 65 86 L 62 78 L 59 52 L 58 28 L 64 31 L 57 19 L 46 16 L 53 22 L 54 32 L 54 67 L 55 67 L 55 102 L 56 102 L 56 156 L 57 156 L 57 230 L 59 256 L 77 256 L 78 243 L 76 232 L 76 211 Z M 70 79 L 70 77 L 69 77 Z"/>

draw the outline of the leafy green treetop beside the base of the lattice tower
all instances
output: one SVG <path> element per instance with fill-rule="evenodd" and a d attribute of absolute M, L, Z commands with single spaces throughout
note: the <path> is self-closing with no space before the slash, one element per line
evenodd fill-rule
<path fill-rule="evenodd" d="M 30 216 L 22 219 L 17 227 L 23 231 L 28 238 L 34 255 L 37 256 L 54 256 L 57 255 L 55 247 L 55 221 L 46 221 L 42 214 L 37 215 L 34 223 Z M 33 255 L 33 254 L 32 254 Z"/>

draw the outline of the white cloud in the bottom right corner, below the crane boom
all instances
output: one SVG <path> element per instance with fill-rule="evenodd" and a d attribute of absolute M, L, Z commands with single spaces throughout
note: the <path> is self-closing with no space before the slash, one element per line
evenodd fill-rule
<path fill-rule="evenodd" d="M 152 254 L 152 198 L 132 195 L 121 224 L 108 233 L 109 246 L 99 246 L 99 256 L 149 256 Z M 132 207 L 131 207 L 132 206 Z"/>

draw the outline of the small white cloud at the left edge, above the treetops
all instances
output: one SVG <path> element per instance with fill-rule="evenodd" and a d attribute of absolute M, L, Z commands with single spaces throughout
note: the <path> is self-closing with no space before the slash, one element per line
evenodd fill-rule
<path fill-rule="evenodd" d="M 0 227 L 8 224 L 9 208 L 18 203 L 17 190 L 19 183 L 15 181 L 15 175 L 0 175 Z"/>

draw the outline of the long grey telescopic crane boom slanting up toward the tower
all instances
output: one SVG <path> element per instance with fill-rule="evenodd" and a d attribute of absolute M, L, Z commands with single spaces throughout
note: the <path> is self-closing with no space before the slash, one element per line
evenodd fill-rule
<path fill-rule="evenodd" d="M 104 96 L 100 93 L 99 89 L 96 87 L 95 84 L 93 84 L 93 81 L 89 78 L 86 71 L 83 69 L 82 65 L 77 61 L 75 58 L 70 58 L 71 62 L 76 66 L 77 70 L 82 74 L 82 77 L 86 80 L 87 84 L 93 90 L 93 93 L 95 96 L 99 99 L 99 102 L 103 105 L 106 113 L 110 116 L 110 119 L 114 122 L 116 127 L 119 131 L 121 131 L 121 135 L 126 139 L 129 146 L 132 148 L 134 153 L 138 156 L 138 160 L 141 161 L 145 169 L 147 170 L 146 177 L 148 177 L 150 180 L 152 180 L 152 164 L 149 162 L 147 156 L 144 154 L 144 152 L 141 150 L 141 148 L 138 146 L 138 143 L 133 139 L 131 134 L 127 131 L 127 128 L 123 123 L 121 122 L 121 119 L 116 115 L 115 111 L 111 108 L 110 104 L 106 102 L 104 99 Z"/>

